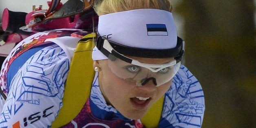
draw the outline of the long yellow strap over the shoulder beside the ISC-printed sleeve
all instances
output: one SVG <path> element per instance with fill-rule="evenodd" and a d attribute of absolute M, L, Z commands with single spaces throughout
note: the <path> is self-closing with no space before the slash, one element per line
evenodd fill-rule
<path fill-rule="evenodd" d="M 53 121 L 52 128 L 59 128 L 72 121 L 90 95 L 95 71 L 92 50 L 95 33 L 85 35 L 77 44 L 65 84 L 63 106 Z"/>

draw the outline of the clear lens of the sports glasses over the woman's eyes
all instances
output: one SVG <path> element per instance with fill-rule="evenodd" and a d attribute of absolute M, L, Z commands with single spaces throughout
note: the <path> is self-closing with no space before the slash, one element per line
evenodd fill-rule
<path fill-rule="evenodd" d="M 161 64 L 154 64 L 154 66 Z M 135 86 L 141 86 L 141 84 L 148 78 L 155 78 L 157 86 L 160 86 L 166 82 L 169 82 L 172 77 L 178 72 L 181 62 L 162 68 L 157 72 L 152 72 L 148 68 L 143 67 L 142 65 L 134 65 L 118 58 L 108 59 L 108 67 L 110 70 L 120 79 L 123 79 L 125 82 Z M 157 69 L 157 68 L 155 68 Z"/>

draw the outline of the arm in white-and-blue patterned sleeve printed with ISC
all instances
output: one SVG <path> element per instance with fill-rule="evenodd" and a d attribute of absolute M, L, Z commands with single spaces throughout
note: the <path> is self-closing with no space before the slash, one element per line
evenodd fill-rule
<path fill-rule="evenodd" d="M 32 55 L 11 80 L 0 127 L 51 126 L 62 107 L 68 69 L 68 58 L 56 44 Z"/>

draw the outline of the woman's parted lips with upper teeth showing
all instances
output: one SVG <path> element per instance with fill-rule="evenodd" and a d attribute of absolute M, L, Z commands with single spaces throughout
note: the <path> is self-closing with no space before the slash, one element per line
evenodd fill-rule
<path fill-rule="evenodd" d="M 148 103 L 151 101 L 151 97 L 145 101 L 139 100 L 136 97 L 130 98 L 130 102 L 132 104 L 132 107 L 137 110 L 143 110 L 148 106 Z"/>

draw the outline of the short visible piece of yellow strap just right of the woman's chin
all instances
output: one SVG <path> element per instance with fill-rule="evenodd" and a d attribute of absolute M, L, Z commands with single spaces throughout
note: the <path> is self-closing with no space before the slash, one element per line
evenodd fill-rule
<path fill-rule="evenodd" d="M 153 106 L 148 110 L 148 113 L 141 118 L 143 126 L 146 128 L 157 128 L 160 121 L 163 109 L 163 96 L 153 104 Z"/>

